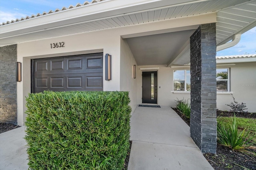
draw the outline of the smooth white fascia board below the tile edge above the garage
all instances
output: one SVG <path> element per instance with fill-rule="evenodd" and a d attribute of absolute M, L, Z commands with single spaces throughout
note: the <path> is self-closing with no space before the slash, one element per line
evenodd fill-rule
<path fill-rule="evenodd" d="M 204 2 L 207 0 L 197 0 Z M 194 0 L 105 0 L 0 26 L 0 38 L 12 37 L 76 23 L 122 16 L 133 12 L 195 3 Z"/>

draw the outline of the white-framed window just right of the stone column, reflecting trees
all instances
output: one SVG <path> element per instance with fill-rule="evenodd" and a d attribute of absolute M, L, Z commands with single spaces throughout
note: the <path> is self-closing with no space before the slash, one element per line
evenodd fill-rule
<path fill-rule="evenodd" d="M 229 72 L 228 68 L 216 69 L 217 92 L 229 92 Z"/>

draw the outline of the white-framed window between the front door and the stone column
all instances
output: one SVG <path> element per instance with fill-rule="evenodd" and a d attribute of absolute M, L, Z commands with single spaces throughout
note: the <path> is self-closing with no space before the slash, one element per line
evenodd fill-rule
<path fill-rule="evenodd" d="M 173 90 L 190 92 L 190 70 L 173 71 Z"/>

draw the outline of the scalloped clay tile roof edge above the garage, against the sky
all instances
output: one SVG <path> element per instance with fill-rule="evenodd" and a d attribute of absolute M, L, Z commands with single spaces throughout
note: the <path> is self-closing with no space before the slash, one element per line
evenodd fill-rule
<path fill-rule="evenodd" d="M 103 0 L 92 0 L 92 2 L 85 1 L 83 4 L 80 4 L 80 3 L 76 4 L 76 6 L 70 5 L 68 8 L 63 7 L 62 9 L 56 9 L 55 11 L 50 10 L 49 12 L 43 12 L 42 14 L 38 13 L 36 15 L 26 16 L 25 18 L 22 17 L 20 19 L 16 19 L 16 20 L 12 20 L 12 21 L 6 21 L 6 22 L 3 22 L 2 24 L 0 23 L 0 26 L 1 25 L 6 25 L 6 24 L 9 24 L 9 23 L 18 22 L 18 21 L 28 20 L 30 18 L 35 18 L 35 17 L 38 17 L 38 16 L 44 16 L 44 15 L 47 15 L 47 14 L 52 14 L 54 12 L 60 12 L 60 11 L 63 11 L 63 10 L 69 10 L 69 9 L 72 9 L 72 8 L 77 8 L 79 6 L 85 6 L 85 5 L 93 4 L 93 3 L 96 3 L 96 2 L 100 2 L 100 1 L 103 1 Z"/>

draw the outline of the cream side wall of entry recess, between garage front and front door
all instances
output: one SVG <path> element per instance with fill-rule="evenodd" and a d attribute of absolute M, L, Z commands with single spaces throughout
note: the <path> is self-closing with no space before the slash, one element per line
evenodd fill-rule
<path fill-rule="evenodd" d="M 121 39 L 120 48 L 120 91 L 129 92 L 133 113 L 138 104 L 138 77 L 133 78 L 133 65 L 137 67 L 137 63 L 125 39 Z"/>

